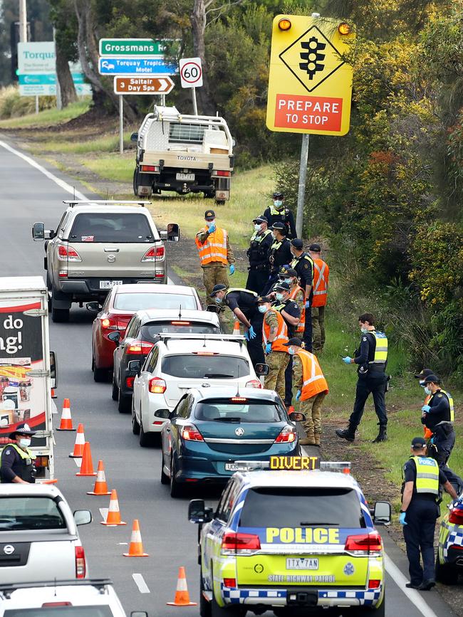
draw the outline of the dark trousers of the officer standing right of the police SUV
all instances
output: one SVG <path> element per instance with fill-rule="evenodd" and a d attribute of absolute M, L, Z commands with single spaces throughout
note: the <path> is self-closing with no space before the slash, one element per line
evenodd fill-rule
<path fill-rule="evenodd" d="M 431 500 L 413 498 L 407 507 L 403 535 L 407 549 L 410 583 L 420 585 L 422 581 L 435 579 L 434 572 L 434 530 L 439 516 L 439 506 Z M 423 566 L 420 564 L 420 555 Z"/>

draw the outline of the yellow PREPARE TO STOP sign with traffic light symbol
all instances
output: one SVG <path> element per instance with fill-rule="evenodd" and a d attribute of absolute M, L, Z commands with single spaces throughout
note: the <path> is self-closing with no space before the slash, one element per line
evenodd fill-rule
<path fill-rule="evenodd" d="M 343 60 L 352 34 L 339 21 L 298 15 L 274 19 L 267 103 L 272 131 L 345 135 L 352 68 Z"/>

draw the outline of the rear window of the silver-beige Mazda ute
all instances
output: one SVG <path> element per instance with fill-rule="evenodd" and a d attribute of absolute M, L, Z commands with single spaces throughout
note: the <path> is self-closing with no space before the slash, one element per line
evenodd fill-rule
<path fill-rule="evenodd" d="M 76 216 L 68 238 L 72 242 L 130 242 L 157 240 L 143 214 L 82 213 Z"/>

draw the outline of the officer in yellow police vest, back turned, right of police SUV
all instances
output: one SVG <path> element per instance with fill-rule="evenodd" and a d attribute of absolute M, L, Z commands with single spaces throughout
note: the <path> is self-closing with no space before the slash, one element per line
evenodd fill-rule
<path fill-rule="evenodd" d="M 403 525 L 410 572 L 407 587 L 429 591 L 435 586 L 434 532 L 439 517 L 439 484 L 453 499 L 457 493 L 437 465 L 426 456 L 424 437 L 412 439 L 410 460 L 403 467 L 402 507 L 399 521 Z M 420 564 L 420 553 L 423 567 Z"/>

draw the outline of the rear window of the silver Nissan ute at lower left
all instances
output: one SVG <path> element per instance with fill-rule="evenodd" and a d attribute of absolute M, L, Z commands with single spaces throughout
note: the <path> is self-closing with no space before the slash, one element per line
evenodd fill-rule
<path fill-rule="evenodd" d="M 1 532 L 31 529 L 66 529 L 66 521 L 49 497 L 0 497 Z"/>

